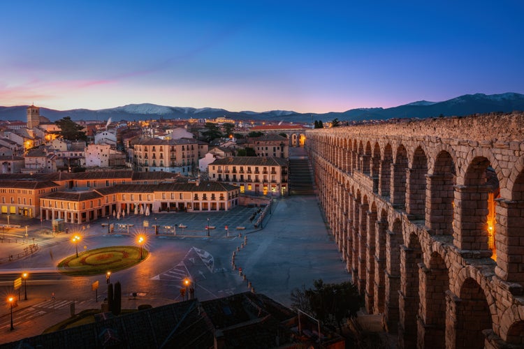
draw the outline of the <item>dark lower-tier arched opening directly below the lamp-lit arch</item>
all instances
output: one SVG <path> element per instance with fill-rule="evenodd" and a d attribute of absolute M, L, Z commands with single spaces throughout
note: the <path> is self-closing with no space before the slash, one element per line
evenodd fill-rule
<path fill-rule="evenodd" d="M 491 329 L 491 314 L 486 295 L 474 279 L 468 278 L 460 288 L 457 304 L 456 348 L 483 348 L 484 329 Z"/>

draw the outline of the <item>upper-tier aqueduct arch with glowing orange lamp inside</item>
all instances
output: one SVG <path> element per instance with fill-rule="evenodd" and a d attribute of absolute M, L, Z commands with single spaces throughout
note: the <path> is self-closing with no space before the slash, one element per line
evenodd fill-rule
<path fill-rule="evenodd" d="M 467 166 L 464 185 L 455 192 L 453 242 L 463 250 L 495 251 L 495 198 L 500 184 L 488 158 L 473 158 Z"/>

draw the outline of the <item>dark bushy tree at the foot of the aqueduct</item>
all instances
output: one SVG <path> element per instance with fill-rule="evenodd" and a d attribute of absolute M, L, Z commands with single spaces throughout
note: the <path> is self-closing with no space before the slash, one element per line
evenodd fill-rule
<path fill-rule="evenodd" d="M 323 283 L 322 279 L 313 282 L 314 288 L 291 292 L 291 307 L 311 313 L 323 325 L 337 325 L 342 333 L 342 320 L 354 318 L 361 306 L 363 297 L 358 294 L 356 285 L 350 282 Z"/>

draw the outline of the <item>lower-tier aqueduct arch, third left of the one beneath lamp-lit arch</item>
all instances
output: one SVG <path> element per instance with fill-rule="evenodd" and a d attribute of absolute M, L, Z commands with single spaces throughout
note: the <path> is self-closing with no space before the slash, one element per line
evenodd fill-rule
<path fill-rule="evenodd" d="M 389 332 L 397 332 L 400 291 L 400 246 L 402 245 L 402 222 L 393 221 L 391 231 L 386 234 L 386 304 L 385 318 Z"/>

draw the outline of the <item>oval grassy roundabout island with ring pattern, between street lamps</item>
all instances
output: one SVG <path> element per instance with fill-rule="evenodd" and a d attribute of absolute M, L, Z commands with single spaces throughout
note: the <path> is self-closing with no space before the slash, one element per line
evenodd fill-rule
<path fill-rule="evenodd" d="M 57 269 L 69 276 L 92 276 L 117 272 L 137 265 L 147 258 L 149 251 L 136 246 L 95 248 L 61 260 Z"/>

